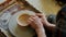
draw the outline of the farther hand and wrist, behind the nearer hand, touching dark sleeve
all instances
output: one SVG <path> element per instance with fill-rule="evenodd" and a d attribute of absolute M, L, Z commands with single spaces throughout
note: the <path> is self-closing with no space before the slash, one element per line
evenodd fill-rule
<path fill-rule="evenodd" d="M 46 26 L 46 27 L 55 27 L 56 26 L 56 25 L 47 22 L 45 14 L 36 13 L 36 15 L 41 18 L 44 26 Z"/>

